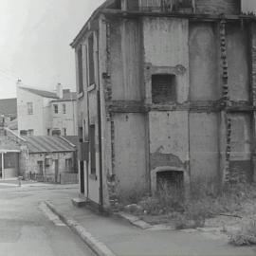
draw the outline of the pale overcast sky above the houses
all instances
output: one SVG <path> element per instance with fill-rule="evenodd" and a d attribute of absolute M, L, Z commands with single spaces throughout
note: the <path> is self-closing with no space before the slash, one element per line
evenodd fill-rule
<path fill-rule="evenodd" d="M 243 0 L 256 9 L 256 0 Z M 0 99 L 16 97 L 16 81 L 75 89 L 69 46 L 103 0 L 0 0 Z"/>

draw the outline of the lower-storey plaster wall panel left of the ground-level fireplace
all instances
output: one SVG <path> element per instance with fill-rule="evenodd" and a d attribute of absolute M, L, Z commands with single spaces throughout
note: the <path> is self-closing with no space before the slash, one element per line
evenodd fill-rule
<path fill-rule="evenodd" d="M 120 197 L 146 192 L 146 121 L 143 114 L 115 114 L 115 161 L 117 192 Z"/>

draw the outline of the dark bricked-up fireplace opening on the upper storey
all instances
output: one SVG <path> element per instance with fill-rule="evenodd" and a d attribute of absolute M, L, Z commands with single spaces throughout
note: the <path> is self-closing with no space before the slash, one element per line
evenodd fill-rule
<path fill-rule="evenodd" d="M 152 76 L 152 102 L 155 104 L 176 101 L 176 78 L 174 75 Z"/>

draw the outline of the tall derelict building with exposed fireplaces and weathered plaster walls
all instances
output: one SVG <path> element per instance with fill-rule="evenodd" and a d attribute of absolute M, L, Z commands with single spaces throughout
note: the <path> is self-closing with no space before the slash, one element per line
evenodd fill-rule
<path fill-rule="evenodd" d="M 240 0 L 106 1 L 72 46 L 85 197 L 256 179 L 256 20 Z"/>

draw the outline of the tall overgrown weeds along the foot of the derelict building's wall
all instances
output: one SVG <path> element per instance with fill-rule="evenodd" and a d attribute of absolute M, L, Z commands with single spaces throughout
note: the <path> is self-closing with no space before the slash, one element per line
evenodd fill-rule
<path fill-rule="evenodd" d="M 163 187 L 155 196 L 144 197 L 135 203 L 144 214 L 165 215 L 165 220 L 169 216 L 177 229 L 185 229 L 204 227 L 207 218 L 220 213 L 236 214 L 243 210 L 245 202 L 256 200 L 255 184 L 229 184 L 219 194 L 208 188 L 210 186 L 196 184 L 192 186 L 190 198 L 185 198 L 182 192 Z"/>

